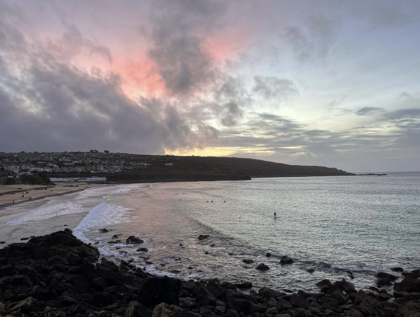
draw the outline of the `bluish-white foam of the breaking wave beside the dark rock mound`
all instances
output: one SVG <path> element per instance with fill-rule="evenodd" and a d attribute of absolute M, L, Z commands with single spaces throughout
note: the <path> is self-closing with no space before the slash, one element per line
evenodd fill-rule
<path fill-rule="evenodd" d="M 105 227 L 117 223 L 125 223 L 125 211 L 130 209 L 124 206 L 117 206 L 103 202 L 94 206 L 82 221 L 73 229 L 73 234 L 85 243 L 92 242 L 85 237 L 85 233 L 92 227 Z"/>

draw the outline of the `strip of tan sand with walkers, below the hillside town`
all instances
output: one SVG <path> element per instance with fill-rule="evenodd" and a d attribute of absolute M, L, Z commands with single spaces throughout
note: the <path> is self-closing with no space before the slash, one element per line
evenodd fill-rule
<path fill-rule="evenodd" d="M 27 203 L 29 199 L 34 201 L 45 197 L 66 195 L 98 186 L 104 185 L 85 182 L 57 183 L 56 185 L 0 185 L 0 210 L 13 204 Z"/>

